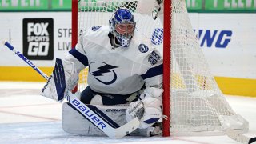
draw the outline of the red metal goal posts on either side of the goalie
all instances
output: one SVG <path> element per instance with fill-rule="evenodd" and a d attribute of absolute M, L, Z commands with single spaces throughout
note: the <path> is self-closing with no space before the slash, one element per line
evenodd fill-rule
<path fill-rule="evenodd" d="M 72 0 L 72 39 L 71 48 L 74 49 L 78 42 L 78 0 Z M 164 1 L 163 23 L 163 89 L 162 94 L 162 136 L 170 136 L 170 60 L 171 60 L 171 6 L 172 0 Z M 73 92 L 78 90 L 76 86 Z"/>

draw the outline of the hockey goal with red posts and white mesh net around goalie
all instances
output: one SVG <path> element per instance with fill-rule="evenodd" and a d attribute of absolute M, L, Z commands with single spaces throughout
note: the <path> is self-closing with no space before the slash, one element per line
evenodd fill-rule
<path fill-rule="evenodd" d="M 248 131 L 248 122 L 232 110 L 210 74 L 190 24 L 185 0 L 164 1 L 164 22 L 160 18 L 152 18 L 156 9 L 152 14 L 138 13 L 138 8 L 143 8 L 137 6 L 138 1 L 153 2 L 73 0 L 72 47 L 78 42 L 79 34 L 87 28 L 108 25 L 114 10 L 126 7 L 134 14 L 136 31 L 163 54 L 162 135 L 216 135 L 225 134 L 229 128 L 238 132 Z M 86 87 L 87 72 L 85 69 L 80 73 L 80 91 Z"/>

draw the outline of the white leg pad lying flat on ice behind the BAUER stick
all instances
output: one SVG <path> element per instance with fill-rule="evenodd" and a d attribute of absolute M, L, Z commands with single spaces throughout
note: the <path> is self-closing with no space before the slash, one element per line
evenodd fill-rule
<path fill-rule="evenodd" d="M 127 123 L 124 119 L 126 106 L 86 106 L 90 107 L 94 113 L 100 115 L 104 120 L 106 120 L 106 122 L 110 124 L 110 126 L 117 128 Z M 62 128 L 64 131 L 71 134 L 106 136 L 102 130 L 99 130 L 98 127 L 89 122 L 68 102 L 63 103 L 62 106 Z"/>

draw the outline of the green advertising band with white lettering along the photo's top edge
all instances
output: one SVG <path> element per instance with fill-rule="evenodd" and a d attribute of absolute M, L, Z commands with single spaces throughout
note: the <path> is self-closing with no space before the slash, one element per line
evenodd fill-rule
<path fill-rule="evenodd" d="M 97 0 L 80 0 L 80 2 Z M 107 1 L 107 0 L 106 0 Z M 72 0 L 0 0 L 0 11 L 70 11 Z M 256 0 L 186 0 L 193 12 L 255 12 Z"/>

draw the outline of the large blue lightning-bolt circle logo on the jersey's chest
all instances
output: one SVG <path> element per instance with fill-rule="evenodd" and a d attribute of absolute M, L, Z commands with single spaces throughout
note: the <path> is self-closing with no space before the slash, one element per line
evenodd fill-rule
<path fill-rule="evenodd" d="M 118 66 L 112 66 L 105 62 L 91 62 L 89 64 L 89 73 L 94 78 L 105 85 L 110 85 L 117 80 L 117 74 L 114 69 Z"/>

